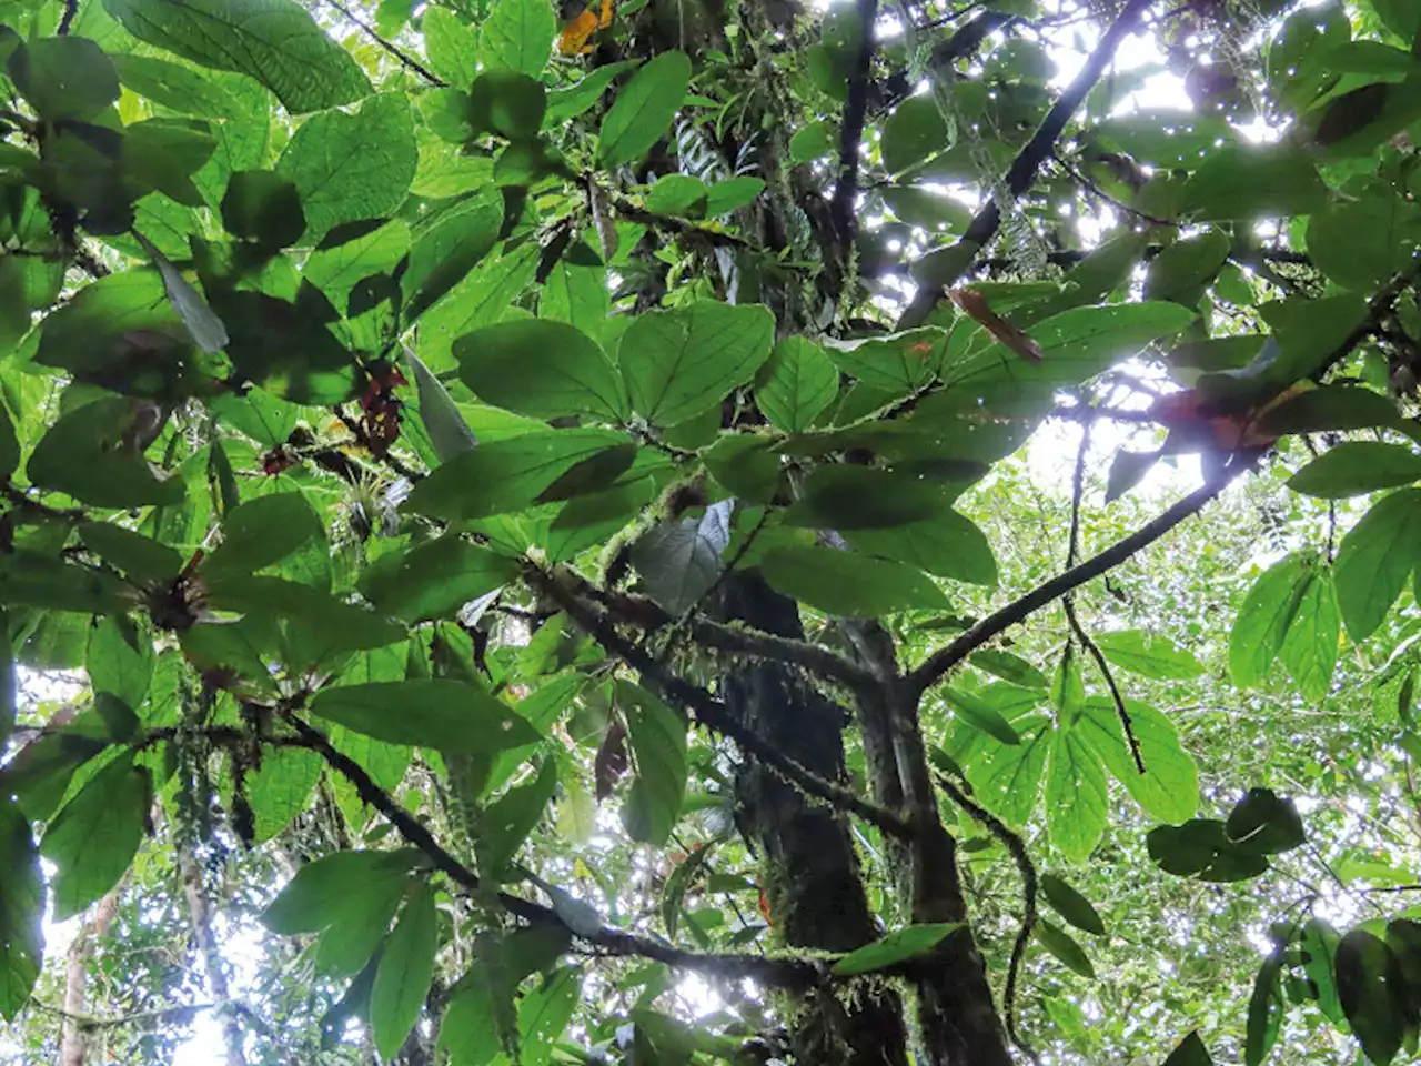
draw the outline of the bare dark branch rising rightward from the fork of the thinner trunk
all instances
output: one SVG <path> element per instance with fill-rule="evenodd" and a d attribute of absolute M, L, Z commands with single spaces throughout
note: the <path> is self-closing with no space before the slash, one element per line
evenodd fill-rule
<path fill-rule="evenodd" d="M 1157 519 L 1141 526 L 1127 537 L 1121 537 L 1114 544 L 1087 559 L 1080 566 L 1071 567 L 1063 574 L 1057 574 L 1050 581 L 1043 581 L 1026 596 L 1013 600 L 999 611 L 993 611 L 971 630 L 963 632 L 946 647 L 932 652 L 921 667 L 908 675 L 907 684 L 911 694 L 922 694 L 938 682 L 949 669 L 980 648 L 993 637 L 1005 632 L 1013 625 L 1025 621 L 1053 600 L 1060 598 L 1071 588 L 1077 588 L 1091 578 L 1100 577 L 1108 570 L 1124 563 L 1137 551 L 1148 547 L 1165 533 L 1172 530 L 1187 517 L 1196 515 L 1204 506 L 1223 492 L 1238 475 L 1252 469 L 1249 459 L 1235 456 L 1222 470 L 1209 478 L 1204 485 L 1175 502 Z"/>

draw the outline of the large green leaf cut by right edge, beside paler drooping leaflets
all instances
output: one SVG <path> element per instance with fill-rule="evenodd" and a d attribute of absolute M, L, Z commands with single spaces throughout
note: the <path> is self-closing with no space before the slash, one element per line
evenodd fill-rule
<path fill-rule="evenodd" d="M 1374 503 L 1337 550 L 1337 607 L 1354 641 L 1370 637 L 1421 561 L 1421 489 Z"/>

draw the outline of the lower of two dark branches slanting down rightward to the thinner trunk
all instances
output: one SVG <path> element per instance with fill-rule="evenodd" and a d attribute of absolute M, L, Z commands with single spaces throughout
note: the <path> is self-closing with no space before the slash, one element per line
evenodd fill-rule
<path fill-rule="evenodd" d="M 848 789 L 811 773 L 763 738 L 746 729 L 735 719 L 725 704 L 715 699 L 705 689 L 668 671 L 649 651 L 617 632 L 617 625 L 608 614 L 577 597 L 558 583 L 556 577 L 546 574 L 531 564 L 524 567 L 524 576 L 543 594 L 567 611 L 568 617 L 590 632 L 603 648 L 618 655 L 627 665 L 637 669 L 642 679 L 659 691 L 665 699 L 681 706 L 706 729 L 735 741 L 746 755 L 757 759 L 783 776 L 784 780 L 797 786 L 806 795 L 823 800 L 834 810 L 855 814 L 868 824 L 875 826 L 880 831 L 899 840 L 911 840 L 914 837 L 912 829 L 892 812 L 877 807 L 855 796 Z"/>

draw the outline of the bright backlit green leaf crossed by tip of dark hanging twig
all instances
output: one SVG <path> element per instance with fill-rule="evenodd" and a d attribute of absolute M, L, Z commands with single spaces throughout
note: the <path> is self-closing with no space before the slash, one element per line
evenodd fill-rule
<path fill-rule="evenodd" d="M 1135 766 L 1114 701 L 1087 698 L 1076 732 L 1096 749 L 1110 773 L 1145 813 L 1164 822 L 1192 817 L 1199 804 L 1199 772 L 1194 758 L 1179 743 L 1174 722 L 1137 699 L 1127 699 L 1125 711 L 1130 714 L 1130 729 L 1140 742 L 1144 773 Z"/>

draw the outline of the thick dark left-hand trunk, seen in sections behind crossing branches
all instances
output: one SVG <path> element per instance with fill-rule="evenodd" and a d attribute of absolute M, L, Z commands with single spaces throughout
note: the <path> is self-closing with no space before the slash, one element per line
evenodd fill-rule
<path fill-rule="evenodd" d="M 726 618 L 766 632 L 803 638 L 793 600 L 756 574 L 725 583 Z M 770 662 L 737 667 L 723 681 L 726 704 L 782 752 L 814 773 L 844 773 L 844 714 L 794 671 Z M 848 826 L 756 763 L 736 779 L 743 826 L 760 851 L 770 921 L 796 948 L 851 951 L 880 935 L 868 910 Z M 810 994 L 794 1012 L 793 1043 L 801 1063 L 902 1066 L 907 1063 L 902 1005 L 890 989 L 864 989 L 840 1002 Z"/>

